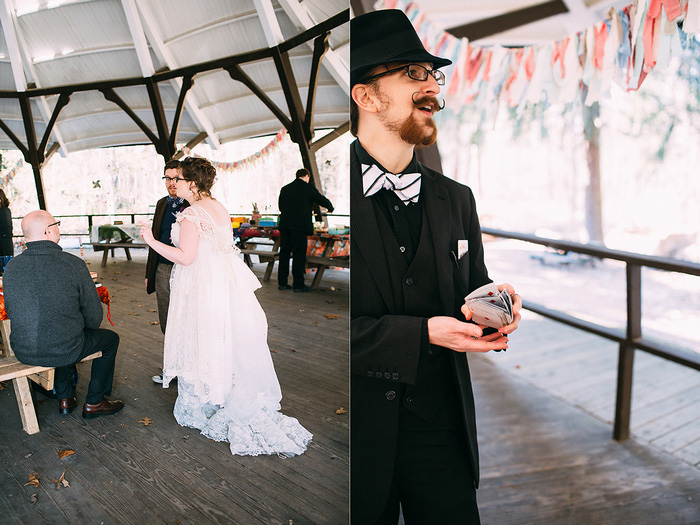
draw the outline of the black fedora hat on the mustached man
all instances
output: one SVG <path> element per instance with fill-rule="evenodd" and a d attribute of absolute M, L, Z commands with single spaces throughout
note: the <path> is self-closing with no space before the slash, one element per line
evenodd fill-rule
<path fill-rule="evenodd" d="M 430 62 L 435 69 L 452 63 L 425 50 L 399 9 L 371 11 L 350 20 L 350 84 L 360 82 L 373 67 L 391 62 Z"/>

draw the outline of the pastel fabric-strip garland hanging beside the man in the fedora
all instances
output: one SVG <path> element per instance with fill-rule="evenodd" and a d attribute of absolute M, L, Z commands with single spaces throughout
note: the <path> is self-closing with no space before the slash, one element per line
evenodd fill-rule
<path fill-rule="evenodd" d="M 682 36 L 700 32 L 700 0 L 637 0 L 610 8 L 605 20 L 563 40 L 512 48 L 458 39 L 408 0 L 379 0 L 375 8 L 403 10 L 428 52 L 452 60 L 443 70 L 441 94 L 453 109 L 499 101 L 518 111 L 545 99 L 568 103 L 584 86 L 591 105 L 613 81 L 627 91 L 639 89 L 652 69 L 665 68 L 681 51 Z"/>

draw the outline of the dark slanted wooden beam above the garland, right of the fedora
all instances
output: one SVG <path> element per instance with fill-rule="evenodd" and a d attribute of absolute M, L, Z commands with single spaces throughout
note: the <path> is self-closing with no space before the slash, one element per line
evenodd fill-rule
<path fill-rule="evenodd" d="M 550 0 L 478 22 L 451 27 L 447 29 L 447 32 L 457 38 L 474 41 L 568 12 L 569 10 L 562 0 Z"/>

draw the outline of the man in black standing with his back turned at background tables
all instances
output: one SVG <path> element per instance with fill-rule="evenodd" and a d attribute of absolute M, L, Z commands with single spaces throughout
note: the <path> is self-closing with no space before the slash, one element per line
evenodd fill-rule
<path fill-rule="evenodd" d="M 311 208 L 314 203 L 333 213 L 333 204 L 312 185 L 311 175 L 302 168 L 297 170 L 294 182 L 282 188 L 279 197 L 280 209 L 280 260 L 277 269 L 277 284 L 280 290 L 288 290 L 289 257 L 293 256 L 292 278 L 295 292 L 310 292 L 304 284 L 306 269 L 306 238 L 314 233 Z"/>

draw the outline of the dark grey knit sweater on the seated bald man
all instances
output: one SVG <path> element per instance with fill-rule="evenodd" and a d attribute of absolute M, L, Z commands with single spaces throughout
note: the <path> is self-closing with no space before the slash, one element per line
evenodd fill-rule
<path fill-rule="evenodd" d="M 102 303 L 85 262 L 52 241 L 28 242 L 10 260 L 3 293 L 10 344 L 23 363 L 74 363 L 83 348 L 83 330 L 102 322 Z"/>

